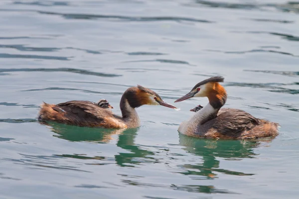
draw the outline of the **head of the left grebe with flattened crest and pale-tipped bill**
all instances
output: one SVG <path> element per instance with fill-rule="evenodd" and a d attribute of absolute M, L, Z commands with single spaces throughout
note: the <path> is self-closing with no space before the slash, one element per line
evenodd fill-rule
<path fill-rule="evenodd" d="M 165 102 L 154 91 L 138 85 L 137 87 L 131 87 L 124 93 L 125 98 L 133 108 L 137 108 L 141 105 L 162 105 L 169 108 L 176 108 L 175 106 Z"/>

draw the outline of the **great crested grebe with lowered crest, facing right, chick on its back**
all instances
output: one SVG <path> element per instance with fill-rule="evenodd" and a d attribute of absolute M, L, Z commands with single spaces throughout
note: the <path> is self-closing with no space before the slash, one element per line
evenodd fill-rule
<path fill-rule="evenodd" d="M 138 85 L 127 89 L 123 94 L 120 102 L 122 116 L 115 115 L 91 101 L 67 101 L 56 105 L 43 102 L 38 119 L 77 126 L 135 128 L 140 125 L 135 108 L 144 104 L 176 108 L 163 101 L 155 92 Z"/>

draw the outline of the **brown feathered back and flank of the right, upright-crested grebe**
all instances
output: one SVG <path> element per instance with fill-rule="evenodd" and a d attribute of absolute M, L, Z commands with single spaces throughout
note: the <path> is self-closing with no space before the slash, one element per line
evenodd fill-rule
<path fill-rule="evenodd" d="M 222 108 L 214 119 L 198 126 L 204 137 L 248 139 L 275 136 L 278 124 L 258 119 L 248 112 L 234 108 Z"/>

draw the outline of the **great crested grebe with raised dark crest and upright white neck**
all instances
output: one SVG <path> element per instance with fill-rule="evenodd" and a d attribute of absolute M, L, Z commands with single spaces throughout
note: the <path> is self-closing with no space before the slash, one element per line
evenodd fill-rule
<path fill-rule="evenodd" d="M 279 124 L 264 119 L 258 119 L 251 114 L 234 108 L 221 108 L 227 99 L 227 94 L 219 82 L 220 76 L 206 79 L 193 87 L 185 96 L 174 102 L 193 97 L 207 97 L 206 106 L 198 105 L 191 111 L 196 112 L 188 121 L 183 121 L 178 131 L 193 137 L 221 139 L 255 139 L 274 137 L 278 135 Z M 220 109 L 221 108 L 221 109 Z"/>

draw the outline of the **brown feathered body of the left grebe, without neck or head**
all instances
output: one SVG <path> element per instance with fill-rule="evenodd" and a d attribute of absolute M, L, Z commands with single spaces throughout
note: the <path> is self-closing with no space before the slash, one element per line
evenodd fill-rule
<path fill-rule="evenodd" d="M 57 111 L 62 109 L 63 111 Z M 40 120 L 52 120 L 59 123 L 105 128 L 126 128 L 111 111 L 97 106 L 91 101 L 67 101 L 63 103 L 43 103 L 40 108 Z"/>

